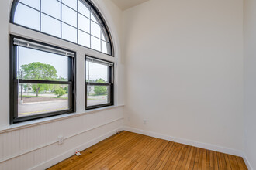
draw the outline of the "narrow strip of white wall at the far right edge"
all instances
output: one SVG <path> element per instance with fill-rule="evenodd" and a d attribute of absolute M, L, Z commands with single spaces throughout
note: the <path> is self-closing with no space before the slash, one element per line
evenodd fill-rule
<path fill-rule="evenodd" d="M 256 169 L 256 2 L 244 0 L 244 151 Z"/>

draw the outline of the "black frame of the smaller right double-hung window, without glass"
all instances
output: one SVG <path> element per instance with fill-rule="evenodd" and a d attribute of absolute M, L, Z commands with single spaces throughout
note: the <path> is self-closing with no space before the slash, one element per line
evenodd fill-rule
<path fill-rule="evenodd" d="M 87 58 L 92 58 L 92 59 L 97 59 L 101 60 L 103 63 L 112 63 L 104 59 L 99 59 L 93 56 L 88 56 L 85 55 L 85 110 L 92 110 L 92 109 L 97 109 L 101 107 L 109 107 L 114 105 L 114 70 L 115 70 L 115 64 L 112 63 L 112 66 L 109 66 L 109 83 L 92 83 L 92 82 L 86 82 L 86 59 Z M 87 106 L 87 87 L 88 86 L 109 86 L 109 103 L 108 104 L 98 104 L 98 105 L 93 105 L 93 106 Z"/>

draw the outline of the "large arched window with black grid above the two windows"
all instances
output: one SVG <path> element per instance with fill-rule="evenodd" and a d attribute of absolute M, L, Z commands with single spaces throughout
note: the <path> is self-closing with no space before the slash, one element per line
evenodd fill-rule
<path fill-rule="evenodd" d="M 109 29 L 85 0 L 14 0 L 11 22 L 113 56 Z"/>

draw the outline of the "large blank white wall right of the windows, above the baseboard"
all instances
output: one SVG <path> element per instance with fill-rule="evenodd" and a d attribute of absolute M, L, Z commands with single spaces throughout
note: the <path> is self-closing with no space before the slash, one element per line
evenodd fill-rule
<path fill-rule="evenodd" d="M 126 126 L 243 149 L 243 1 L 130 8 L 123 49 Z"/>

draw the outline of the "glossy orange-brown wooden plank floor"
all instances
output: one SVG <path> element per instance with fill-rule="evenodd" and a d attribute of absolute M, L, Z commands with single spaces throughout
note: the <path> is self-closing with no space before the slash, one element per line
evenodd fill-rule
<path fill-rule="evenodd" d="M 243 158 L 122 131 L 49 169 L 247 169 Z"/>

